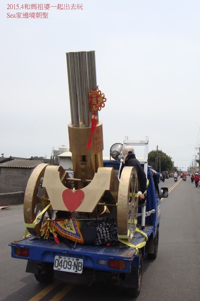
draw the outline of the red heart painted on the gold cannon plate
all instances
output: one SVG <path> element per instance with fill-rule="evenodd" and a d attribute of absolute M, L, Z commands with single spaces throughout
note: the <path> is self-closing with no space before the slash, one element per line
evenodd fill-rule
<path fill-rule="evenodd" d="M 75 211 L 82 203 L 85 194 L 82 190 L 65 189 L 62 193 L 64 205 L 70 212 Z"/>

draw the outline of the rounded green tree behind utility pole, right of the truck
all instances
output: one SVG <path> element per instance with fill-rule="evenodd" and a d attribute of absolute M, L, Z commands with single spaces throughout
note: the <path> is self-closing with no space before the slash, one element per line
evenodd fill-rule
<path fill-rule="evenodd" d="M 148 165 L 152 166 L 153 168 L 155 168 L 156 155 L 157 155 L 157 151 L 150 151 L 148 153 Z M 173 167 L 173 163 L 171 158 L 167 156 L 166 153 L 163 153 L 163 151 L 158 150 L 158 169 L 160 168 L 161 172 L 168 171 L 170 173 L 172 167 Z"/>

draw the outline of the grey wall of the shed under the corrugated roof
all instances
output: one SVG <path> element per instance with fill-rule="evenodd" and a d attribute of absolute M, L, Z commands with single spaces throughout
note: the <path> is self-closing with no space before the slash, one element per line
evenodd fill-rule
<path fill-rule="evenodd" d="M 0 167 L 0 193 L 24 191 L 33 169 Z"/>

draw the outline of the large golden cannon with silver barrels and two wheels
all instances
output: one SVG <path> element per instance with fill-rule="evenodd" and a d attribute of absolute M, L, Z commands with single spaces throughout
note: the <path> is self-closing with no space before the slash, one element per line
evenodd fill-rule
<path fill-rule="evenodd" d="M 130 242 L 135 233 L 138 207 L 136 170 L 124 169 L 119 181 L 113 168 L 103 167 L 103 126 L 98 120 L 97 110 L 97 124 L 94 133 L 91 132 L 88 100 L 89 92 L 97 87 L 94 51 L 70 52 L 66 56 L 73 178 L 61 166 L 38 165 L 25 192 L 25 226 L 29 233 L 35 235 L 40 234 L 44 217 L 53 218 L 52 213 L 57 211 L 68 211 L 72 216 L 87 218 L 106 214 L 106 217 L 117 220 L 118 234 Z M 91 147 L 86 148 L 91 136 Z"/>

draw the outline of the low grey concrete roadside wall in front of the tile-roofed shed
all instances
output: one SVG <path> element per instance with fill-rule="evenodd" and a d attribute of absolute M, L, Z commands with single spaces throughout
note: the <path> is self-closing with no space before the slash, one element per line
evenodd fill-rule
<path fill-rule="evenodd" d="M 24 203 L 24 191 L 0 193 L 0 206 L 19 205 Z"/>

